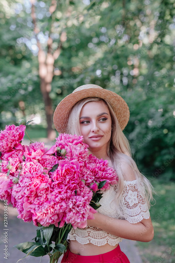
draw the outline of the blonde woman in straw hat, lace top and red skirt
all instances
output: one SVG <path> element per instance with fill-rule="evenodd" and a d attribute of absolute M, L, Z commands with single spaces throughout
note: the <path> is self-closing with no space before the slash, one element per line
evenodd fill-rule
<path fill-rule="evenodd" d="M 75 89 L 55 110 L 57 131 L 83 135 L 90 153 L 108 160 L 119 178 L 116 186 L 103 192 L 95 219 L 87 220 L 84 229 L 71 229 L 69 248 L 61 262 L 129 262 L 118 243 L 122 239 L 149 242 L 153 238 L 149 214 L 152 186 L 131 158 L 122 132 L 128 120 L 125 101 L 93 84 Z"/>

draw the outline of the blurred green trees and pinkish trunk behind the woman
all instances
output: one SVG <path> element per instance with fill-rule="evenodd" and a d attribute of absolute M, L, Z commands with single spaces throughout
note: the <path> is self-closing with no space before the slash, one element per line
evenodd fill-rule
<path fill-rule="evenodd" d="M 173 0 L 0 3 L 0 125 L 20 118 L 55 138 L 57 104 L 80 85 L 119 94 L 139 169 L 175 179 Z M 41 132 L 42 131 L 42 132 Z"/>

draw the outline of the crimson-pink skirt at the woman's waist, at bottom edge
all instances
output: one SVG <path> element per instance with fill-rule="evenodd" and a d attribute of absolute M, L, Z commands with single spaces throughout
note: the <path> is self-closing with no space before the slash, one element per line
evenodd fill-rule
<path fill-rule="evenodd" d="M 130 263 L 128 257 L 120 250 L 118 245 L 112 251 L 96 256 L 80 256 L 73 254 L 69 248 L 64 254 L 61 263 Z"/>

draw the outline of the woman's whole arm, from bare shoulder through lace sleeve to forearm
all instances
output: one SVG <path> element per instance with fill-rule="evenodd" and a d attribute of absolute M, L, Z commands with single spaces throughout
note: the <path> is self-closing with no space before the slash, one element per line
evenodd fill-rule
<path fill-rule="evenodd" d="M 125 164 L 122 167 L 122 172 L 124 179 L 126 181 L 134 181 L 135 176 L 133 171 L 131 170 L 130 166 Z M 132 184 L 131 184 L 132 185 Z M 129 215 L 130 209 L 133 211 L 135 207 L 139 207 L 139 204 L 142 204 L 144 206 L 144 203 L 146 202 L 143 198 L 141 198 L 138 189 L 135 185 L 129 188 L 131 190 L 131 194 L 133 192 L 137 192 L 137 200 L 134 202 L 129 202 L 128 196 L 129 196 L 129 190 L 124 189 L 123 198 L 124 198 L 124 204 L 123 209 L 126 213 L 126 219 L 128 220 L 121 220 L 121 219 L 115 219 L 106 215 L 102 215 L 100 213 L 94 214 L 94 220 L 87 220 L 88 226 L 95 226 L 102 230 L 104 230 L 107 233 L 110 233 L 115 236 L 119 236 L 125 239 L 131 239 L 131 240 L 137 240 L 142 242 L 149 242 L 153 239 L 154 236 L 154 230 L 151 222 L 151 218 L 149 219 L 143 219 L 144 216 L 142 216 L 142 210 L 140 211 L 140 222 L 138 219 L 135 219 L 134 215 Z M 148 208 L 147 208 L 148 210 Z M 144 210 L 145 211 L 145 210 Z M 137 211 L 138 213 L 138 211 Z M 149 215 L 147 215 L 148 218 Z M 135 219 L 135 220 L 134 220 Z M 130 223 L 130 222 L 132 223 Z M 134 222 L 134 223 L 133 223 Z"/>

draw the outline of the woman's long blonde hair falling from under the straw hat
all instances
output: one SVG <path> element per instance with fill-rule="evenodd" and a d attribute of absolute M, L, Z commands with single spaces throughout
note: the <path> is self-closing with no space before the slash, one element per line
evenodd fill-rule
<path fill-rule="evenodd" d="M 122 204 L 123 189 L 124 189 L 124 172 L 123 172 L 124 165 L 121 164 L 128 164 L 129 167 L 132 169 L 135 176 L 135 180 L 137 180 L 138 189 L 142 194 L 142 196 L 146 199 L 148 207 L 150 208 L 151 201 L 153 199 L 152 193 L 155 191 L 149 180 L 143 174 L 140 173 L 135 161 L 132 159 L 129 141 L 125 137 L 123 131 L 121 130 L 116 115 L 114 113 L 114 110 L 107 100 L 103 100 L 95 97 L 89 97 L 77 102 L 72 108 L 72 111 L 70 113 L 66 132 L 69 134 L 81 135 L 79 115 L 83 105 L 91 101 L 103 102 L 108 107 L 112 119 L 113 129 L 112 129 L 111 138 L 107 144 L 107 154 L 110 157 L 113 164 L 113 168 L 116 170 L 119 178 L 117 185 L 118 191 L 115 198 L 115 205 L 117 211 L 119 211 L 120 216 L 123 216 L 122 210 L 120 208 Z M 141 180 L 141 184 L 139 180 Z M 144 186 L 144 189 L 142 188 L 142 185 Z"/>

